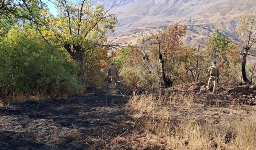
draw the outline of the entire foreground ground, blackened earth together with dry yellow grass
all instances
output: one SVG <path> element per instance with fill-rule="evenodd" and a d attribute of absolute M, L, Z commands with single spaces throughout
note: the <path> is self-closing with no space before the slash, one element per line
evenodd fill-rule
<path fill-rule="evenodd" d="M 194 82 L 161 92 L 122 93 L 100 90 L 65 101 L 4 103 L 0 108 L 0 147 L 2 150 L 256 148 L 255 86 L 222 85 L 212 95 L 205 83 Z"/>

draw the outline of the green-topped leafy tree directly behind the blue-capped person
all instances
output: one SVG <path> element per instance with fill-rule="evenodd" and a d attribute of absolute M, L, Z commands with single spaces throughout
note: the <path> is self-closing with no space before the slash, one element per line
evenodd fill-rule
<path fill-rule="evenodd" d="M 212 37 L 206 41 L 204 58 L 208 67 L 212 60 L 217 60 L 220 68 L 220 83 L 239 82 L 240 55 L 236 44 L 231 42 L 227 36 L 222 35 L 218 29 L 214 30 Z"/>

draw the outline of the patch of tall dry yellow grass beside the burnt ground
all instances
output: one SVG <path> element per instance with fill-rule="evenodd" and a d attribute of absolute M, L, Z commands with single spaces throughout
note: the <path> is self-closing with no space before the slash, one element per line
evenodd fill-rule
<path fill-rule="evenodd" d="M 195 104 L 196 98 L 193 94 L 161 91 L 140 95 L 134 93 L 128 103 L 128 109 L 137 118 L 131 140 L 134 148 L 148 146 L 149 149 L 168 150 L 256 149 L 256 117 L 237 117 L 231 120 L 218 117 L 202 119 L 204 117 L 200 116 L 199 112 L 197 114 L 192 110 Z"/>

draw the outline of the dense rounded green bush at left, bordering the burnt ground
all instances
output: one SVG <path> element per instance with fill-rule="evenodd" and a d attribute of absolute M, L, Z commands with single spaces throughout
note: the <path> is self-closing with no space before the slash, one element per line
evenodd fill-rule
<path fill-rule="evenodd" d="M 77 81 L 78 66 L 60 56 L 34 29 L 12 29 L 0 42 L 0 84 L 10 92 L 42 96 L 68 96 L 81 92 Z M 56 47 L 55 47 L 56 48 Z"/>

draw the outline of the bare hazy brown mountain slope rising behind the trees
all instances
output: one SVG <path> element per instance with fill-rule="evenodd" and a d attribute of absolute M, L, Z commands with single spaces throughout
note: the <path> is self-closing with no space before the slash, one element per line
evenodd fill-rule
<path fill-rule="evenodd" d="M 141 31 L 163 28 L 174 23 L 187 25 L 184 44 L 204 43 L 212 31 L 234 37 L 240 16 L 256 12 L 256 0 L 92 0 L 116 14 L 115 37 L 134 42 Z M 113 37 L 114 37 L 113 36 Z"/>

